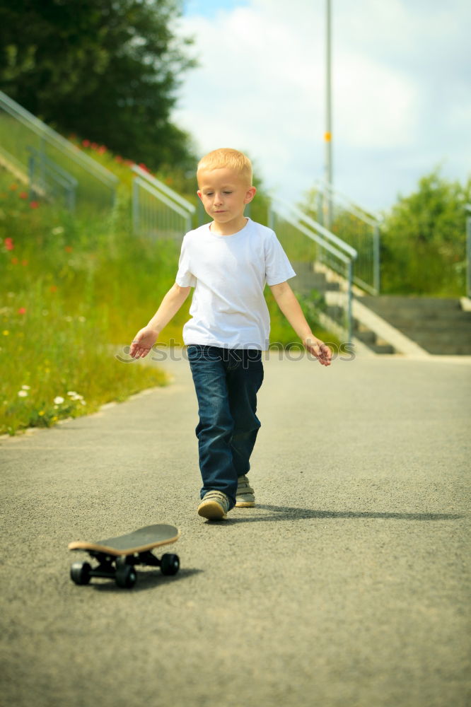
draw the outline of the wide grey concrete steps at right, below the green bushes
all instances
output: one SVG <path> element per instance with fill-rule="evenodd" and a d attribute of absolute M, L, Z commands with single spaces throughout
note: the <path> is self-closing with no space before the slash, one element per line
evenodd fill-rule
<path fill-rule="evenodd" d="M 383 295 L 359 301 L 429 354 L 471 356 L 471 312 L 458 299 Z M 371 333 L 355 335 L 370 346 Z"/>

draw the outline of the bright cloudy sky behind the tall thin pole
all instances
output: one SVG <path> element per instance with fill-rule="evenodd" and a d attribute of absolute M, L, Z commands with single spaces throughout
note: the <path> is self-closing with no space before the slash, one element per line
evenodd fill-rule
<path fill-rule="evenodd" d="M 384 211 L 441 168 L 471 176 L 471 3 L 332 0 L 333 182 Z M 325 175 L 325 0 L 186 0 L 199 66 L 173 120 L 197 154 L 248 153 L 264 186 L 302 201 Z"/>

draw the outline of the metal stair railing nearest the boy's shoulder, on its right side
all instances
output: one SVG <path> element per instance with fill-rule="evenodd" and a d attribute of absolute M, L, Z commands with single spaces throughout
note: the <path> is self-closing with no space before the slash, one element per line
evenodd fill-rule
<path fill-rule="evenodd" d="M 277 233 L 295 271 L 304 271 L 305 292 L 316 289 L 316 273 L 323 275 L 324 281 L 332 282 L 335 289 L 324 293 L 324 301 L 318 303 L 317 315 L 320 323 L 337 334 L 342 343 L 351 343 L 356 250 L 296 206 L 281 199 L 272 199 L 268 225 Z M 296 281 L 293 281 L 293 288 L 296 287 Z"/>

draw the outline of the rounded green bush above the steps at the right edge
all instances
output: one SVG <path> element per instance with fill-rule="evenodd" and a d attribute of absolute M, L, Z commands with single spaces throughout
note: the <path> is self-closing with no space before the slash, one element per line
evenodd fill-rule
<path fill-rule="evenodd" d="M 471 180 L 465 186 L 449 182 L 439 170 L 422 177 L 416 192 L 399 197 L 382 228 L 383 293 L 463 296 L 470 201 Z"/>

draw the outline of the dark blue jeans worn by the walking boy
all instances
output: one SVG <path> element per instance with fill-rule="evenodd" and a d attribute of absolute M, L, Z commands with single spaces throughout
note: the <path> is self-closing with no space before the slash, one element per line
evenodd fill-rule
<path fill-rule="evenodd" d="M 223 491 L 236 504 L 237 479 L 248 473 L 260 421 L 257 391 L 263 381 L 262 352 L 188 346 L 199 405 L 196 428 L 199 469 L 208 491 Z"/>

